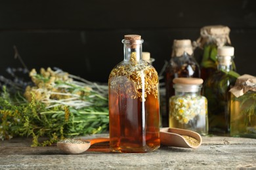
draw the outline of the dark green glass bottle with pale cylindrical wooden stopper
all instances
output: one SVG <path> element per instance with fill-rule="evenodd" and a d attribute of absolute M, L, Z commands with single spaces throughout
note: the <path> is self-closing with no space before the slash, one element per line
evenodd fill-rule
<path fill-rule="evenodd" d="M 228 90 L 234 86 L 238 73 L 233 70 L 234 47 L 222 46 L 217 51 L 217 71 L 203 84 L 203 95 L 208 100 L 209 132 L 217 135 L 230 133 L 230 105 Z"/>

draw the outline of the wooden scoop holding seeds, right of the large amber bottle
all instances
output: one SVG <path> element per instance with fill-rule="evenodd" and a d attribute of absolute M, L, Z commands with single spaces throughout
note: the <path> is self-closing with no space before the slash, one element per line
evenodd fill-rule
<path fill-rule="evenodd" d="M 188 139 L 185 139 L 184 136 Z M 192 137 L 192 138 L 191 138 Z M 197 143 L 194 144 L 192 141 L 188 141 L 192 139 L 196 139 Z M 165 146 L 177 146 L 182 148 L 198 148 L 202 144 L 202 137 L 200 134 L 195 131 L 190 131 L 186 129 L 178 129 L 178 128 L 170 128 L 163 127 L 160 128 L 160 141 L 161 144 Z"/>

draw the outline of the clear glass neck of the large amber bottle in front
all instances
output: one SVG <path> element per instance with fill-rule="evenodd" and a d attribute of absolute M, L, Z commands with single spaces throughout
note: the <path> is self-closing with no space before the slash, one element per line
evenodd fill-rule
<path fill-rule="evenodd" d="M 143 40 L 123 40 L 124 61 L 140 61 L 142 59 Z"/>

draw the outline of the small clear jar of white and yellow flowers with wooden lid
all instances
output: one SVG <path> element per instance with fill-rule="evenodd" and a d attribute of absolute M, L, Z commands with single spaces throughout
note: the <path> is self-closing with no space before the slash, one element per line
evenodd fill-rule
<path fill-rule="evenodd" d="M 207 99 L 201 95 L 202 78 L 174 78 L 175 95 L 169 101 L 169 127 L 208 133 Z"/>

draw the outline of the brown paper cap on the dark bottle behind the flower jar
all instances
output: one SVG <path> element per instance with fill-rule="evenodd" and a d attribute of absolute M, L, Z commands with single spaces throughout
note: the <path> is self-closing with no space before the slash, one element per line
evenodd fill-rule
<path fill-rule="evenodd" d="M 177 56 L 180 57 L 186 52 L 189 55 L 193 54 L 193 48 L 192 48 L 192 43 L 190 39 L 182 39 L 182 40 L 177 40 L 175 39 L 173 41 L 173 52 L 171 56 Z"/>

